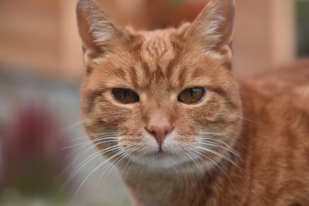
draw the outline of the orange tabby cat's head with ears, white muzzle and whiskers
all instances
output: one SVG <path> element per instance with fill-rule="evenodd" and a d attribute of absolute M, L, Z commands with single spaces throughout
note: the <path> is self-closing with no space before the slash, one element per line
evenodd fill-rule
<path fill-rule="evenodd" d="M 78 2 L 77 19 L 87 67 L 81 113 L 103 155 L 190 169 L 233 153 L 242 115 L 233 0 L 211 1 L 177 29 L 122 28 L 93 0 Z"/>

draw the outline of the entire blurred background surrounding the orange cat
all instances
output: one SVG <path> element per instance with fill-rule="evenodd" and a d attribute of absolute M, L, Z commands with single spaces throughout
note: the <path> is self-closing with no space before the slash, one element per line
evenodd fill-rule
<path fill-rule="evenodd" d="M 209 2 L 97 1 L 120 24 L 146 30 L 193 21 Z M 233 67 L 239 76 L 309 56 L 308 0 L 235 1 Z M 79 116 L 85 68 L 75 5 L 0 0 L 1 206 L 73 205 L 75 196 L 74 205 L 130 205 L 116 171 L 98 182 L 109 164 L 75 193 L 103 161 L 96 157 L 78 170 L 95 150 L 86 144 Z"/>

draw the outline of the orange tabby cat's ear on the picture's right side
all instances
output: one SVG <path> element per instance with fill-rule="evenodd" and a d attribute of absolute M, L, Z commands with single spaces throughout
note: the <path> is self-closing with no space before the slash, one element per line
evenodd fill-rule
<path fill-rule="evenodd" d="M 185 37 L 223 55 L 226 62 L 232 59 L 232 39 L 235 22 L 234 0 L 212 0 L 194 20 Z"/>

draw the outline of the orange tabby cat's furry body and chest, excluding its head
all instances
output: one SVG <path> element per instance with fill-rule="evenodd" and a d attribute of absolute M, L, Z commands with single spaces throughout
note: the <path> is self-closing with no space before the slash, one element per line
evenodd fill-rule
<path fill-rule="evenodd" d="M 136 205 L 309 205 L 309 60 L 261 74 L 240 81 L 243 170 L 223 160 L 228 176 L 133 173 Z"/>

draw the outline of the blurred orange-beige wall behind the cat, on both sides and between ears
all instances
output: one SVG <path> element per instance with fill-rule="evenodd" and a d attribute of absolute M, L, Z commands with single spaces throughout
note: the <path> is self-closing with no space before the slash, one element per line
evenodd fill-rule
<path fill-rule="evenodd" d="M 97 0 L 138 29 L 192 21 L 209 0 Z M 235 0 L 234 69 L 246 75 L 295 56 L 293 0 Z M 76 79 L 84 74 L 76 0 L 0 1 L 0 64 Z M 4 68 L 4 67 L 0 67 Z"/>

